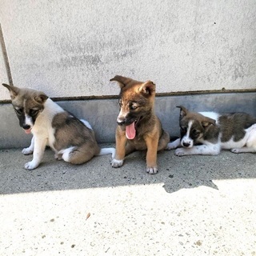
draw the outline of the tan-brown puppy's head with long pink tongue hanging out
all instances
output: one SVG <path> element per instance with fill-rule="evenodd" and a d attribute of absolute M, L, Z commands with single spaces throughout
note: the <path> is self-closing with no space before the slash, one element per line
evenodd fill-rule
<path fill-rule="evenodd" d="M 118 82 L 121 89 L 118 125 L 126 127 L 126 136 L 132 139 L 135 137 L 138 122 L 154 111 L 155 84 L 150 80 L 139 82 L 119 75 L 110 81 Z"/>

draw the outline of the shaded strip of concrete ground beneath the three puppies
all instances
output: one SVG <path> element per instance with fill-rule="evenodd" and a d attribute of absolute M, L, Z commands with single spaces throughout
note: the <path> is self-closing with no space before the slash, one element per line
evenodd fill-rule
<path fill-rule="evenodd" d="M 113 145 L 104 145 L 113 146 Z M 23 168 L 32 156 L 21 150 L 0 151 L 0 194 L 15 194 L 52 190 L 78 190 L 162 183 L 172 193 L 181 189 L 210 186 L 218 189 L 214 180 L 256 178 L 255 154 L 233 154 L 222 151 L 218 156 L 174 156 L 174 150 L 158 154 L 159 172 L 146 173 L 144 152 L 126 157 L 124 166 L 110 166 L 110 155 L 95 157 L 81 166 L 54 159 L 48 149 L 42 164 L 35 170 Z"/>

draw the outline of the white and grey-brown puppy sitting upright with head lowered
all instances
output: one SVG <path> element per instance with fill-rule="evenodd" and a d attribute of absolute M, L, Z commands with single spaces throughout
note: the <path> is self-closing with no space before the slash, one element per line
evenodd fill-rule
<path fill-rule="evenodd" d="M 82 164 L 94 155 L 113 154 L 114 148 L 100 149 L 89 122 L 79 120 L 38 90 L 2 84 L 10 91 L 10 98 L 19 119 L 19 125 L 34 135 L 23 154 L 32 154 L 33 160 L 25 168 L 33 170 L 42 161 L 46 146 L 55 152 L 55 158 L 73 164 Z"/>

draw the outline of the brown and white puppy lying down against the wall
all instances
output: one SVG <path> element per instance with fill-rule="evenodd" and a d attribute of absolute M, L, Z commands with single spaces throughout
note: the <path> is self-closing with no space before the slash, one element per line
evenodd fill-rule
<path fill-rule="evenodd" d="M 168 150 L 182 146 L 175 150 L 176 155 L 216 155 L 222 149 L 233 153 L 256 152 L 256 118 L 250 114 L 194 113 L 184 106 L 178 107 L 181 138 L 167 146 Z"/>

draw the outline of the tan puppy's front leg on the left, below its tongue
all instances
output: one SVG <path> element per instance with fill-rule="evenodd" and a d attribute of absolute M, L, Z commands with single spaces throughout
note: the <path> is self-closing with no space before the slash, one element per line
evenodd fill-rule
<path fill-rule="evenodd" d="M 126 134 L 125 131 L 119 130 L 119 127 L 116 131 L 115 142 L 116 142 L 116 150 L 114 159 L 111 162 L 112 167 L 118 168 L 123 164 L 123 159 L 126 156 Z"/>

